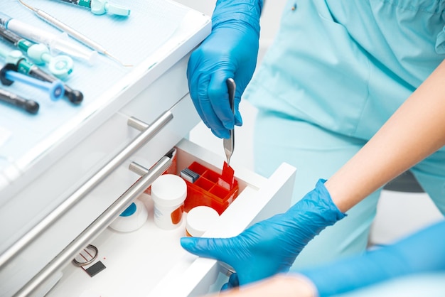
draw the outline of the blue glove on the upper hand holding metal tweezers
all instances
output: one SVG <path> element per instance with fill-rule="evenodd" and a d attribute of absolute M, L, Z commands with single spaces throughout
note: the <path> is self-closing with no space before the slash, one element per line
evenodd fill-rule
<path fill-rule="evenodd" d="M 218 0 L 212 33 L 188 61 L 188 88 L 205 125 L 228 138 L 242 119 L 238 106 L 257 65 L 259 16 L 262 0 Z M 229 104 L 227 78 L 235 80 L 235 117 Z"/>

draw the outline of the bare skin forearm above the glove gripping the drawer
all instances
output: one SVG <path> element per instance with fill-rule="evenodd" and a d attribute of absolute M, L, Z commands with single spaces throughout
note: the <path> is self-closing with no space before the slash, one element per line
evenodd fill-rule
<path fill-rule="evenodd" d="M 445 146 L 445 61 L 325 185 L 345 212 Z"/>

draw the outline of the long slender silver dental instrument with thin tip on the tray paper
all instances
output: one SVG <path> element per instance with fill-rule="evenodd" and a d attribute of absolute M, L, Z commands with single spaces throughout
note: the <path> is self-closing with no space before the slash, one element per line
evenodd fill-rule
<path fill-rule="evenodd" d="M 132 67 L 133 65 L 128 65 L 122 63 L 119 59 L 114 57 L 114 55 L 111 55 L 106 48 L 104 48 L 99 43 L 92 41 L 90 38 L 87 38 L 87 36 L 83 35 L 79 31 L 76 31 L 75 29 L 71 28 L 67 24 L 59 21 L 57 18 L 50 16 L 50 14 L 46 13 L 45 11 L 42 11 L 41 9 L 37 9 L 36 7 L 30 6 L 23 2 L 22 0 L 18 0 L 23 6 L 26 6 L 28 9 L 31 9 L 31 11 L 34 11 L 36 15 L 40 18 L 42 18 L 44 21 L 50 23 L 51 25 L 55 26 L 55 28 L 58 28 L 61 31 L 65 31 L 68 33 L 69 36 L 75 38 L 80 43 L 83 43 L 87 45 L 88 47 L 92 48 L 93 50 L 96 50 L 97 53 L 101 53 L 102 55 L 107 55 L 109 58 L 112 58 L 112 60 L 117 61 L 117 63 L 120 63 L 124 67 Z"/>

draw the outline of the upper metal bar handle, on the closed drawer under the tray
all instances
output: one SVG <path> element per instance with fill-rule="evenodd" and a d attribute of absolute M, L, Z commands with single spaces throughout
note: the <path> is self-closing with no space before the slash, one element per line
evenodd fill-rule
<path fill-rule="evenodd" d="M 141 146 L 144 146 L 147 141 L 153 138 L 158 132 L 165 126 L 168 121 L 173 119 L 173 114 L 170 110 L 161 114 L 151 125 L 143 124 L 143 131 L 139 134 L 126 148 L 122 149 L 116 156 L 109 161 L 104 167 L 102 167 L 95 175 L 90 178 L 86 183 L 84 183 L 80 188 L 78 188 L 68 199 L 60 203 L 58 207 L 55 207 L 53 212 L 48 216 L 43 218 L 36 226 L 30 229 L 26 234 L 18 239 L 14 244 L 11 245 L 6 251 L 0 255 L 0 269 L 5 266 L 11 259 L 17 256 L 28 244 L 31 244 L 40 234 L 42 234 L 45 229 L 53 225 L 60 217 L 62 217 L 65 212 L 70 210 L 77 202 L 85 198 L 85 196 L 91 192 L 99 183 L 104 180 L 104 178 L 112 173 L 114 169 L 120 166 L 129 156 L 132 156 Z M 129 119 L 129 125 L 134 126 L 134 123 L 143 123 L 142 121 L 136 120 L 134 118 Z"/>

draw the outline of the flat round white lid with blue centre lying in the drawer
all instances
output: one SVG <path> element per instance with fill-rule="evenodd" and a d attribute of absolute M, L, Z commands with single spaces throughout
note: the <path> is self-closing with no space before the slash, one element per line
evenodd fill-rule
<path fill-rule="evenodd" d="M 149 212 L 144 202 L 136 199 L 109 227 L 119 232 L 136 231 L 145 224 L 147 217 L 149 217 Z"/>

